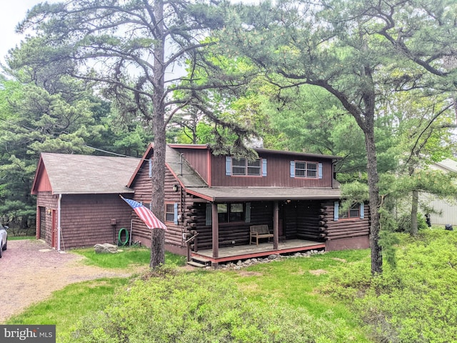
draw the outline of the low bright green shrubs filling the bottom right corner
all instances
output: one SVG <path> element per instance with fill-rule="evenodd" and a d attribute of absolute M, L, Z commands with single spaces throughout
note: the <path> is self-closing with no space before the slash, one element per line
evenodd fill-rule
<path fill-rule="evenodd" d="M 368 277 L 367 266 L 342 269 L 328 288 L 371 327 L 375 342 L 457 342 L 457 233 L 403 234 L 396 269 Z"/>

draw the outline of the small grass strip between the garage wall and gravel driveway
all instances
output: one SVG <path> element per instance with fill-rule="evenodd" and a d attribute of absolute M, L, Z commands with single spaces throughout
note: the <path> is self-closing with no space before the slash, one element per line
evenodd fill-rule
<path fill-rule="evenodd" d="M 96 254 L 94 248 L 74 249 L 70 252 L 81 254 L 86 259 L 85 264 L 102 268 L 129 268 L 137 266 L 148 266 L 151 257 L 151 250 L 145 247 L 123 247 L 117 254 Z M 165 253 L 165 264 L 183 266 L 186 264 L 186 257 L 176 254 Z"/>

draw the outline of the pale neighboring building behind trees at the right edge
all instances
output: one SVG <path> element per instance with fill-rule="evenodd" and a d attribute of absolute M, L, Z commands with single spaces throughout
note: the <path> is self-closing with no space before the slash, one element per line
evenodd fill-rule
<path fill-rule="evenodd" d="M 457 172 L 457 162 L 452 159 L 445 159 L 441 162 L 437 162 L 430 166 L 431 169 L 441 170 L 441 172 L 449 173 Z M 432 225 L 446 225 L 452 224 L 457 226 L 457 202 L 451 199 L 438 199 L 438 197 L 433 194 L 421 194 L 421 201 L 426 202 L 426 204 L 441 214 L 430 214 L 430 220 Z"/>

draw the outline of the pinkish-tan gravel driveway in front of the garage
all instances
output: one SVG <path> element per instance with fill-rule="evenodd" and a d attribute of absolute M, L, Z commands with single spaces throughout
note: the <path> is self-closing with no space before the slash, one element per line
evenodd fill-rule
<path fill-rule="evenodd" d="M 129 277 L 136 270 L 84 265 L 81 255 L 56 252 L 43 241 L 8 241 L 0 259 L 0 323 L 67 284 L 102 277 Z"/>

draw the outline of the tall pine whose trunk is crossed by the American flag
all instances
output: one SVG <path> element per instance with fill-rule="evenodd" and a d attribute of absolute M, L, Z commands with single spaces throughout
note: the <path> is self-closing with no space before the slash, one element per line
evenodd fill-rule
<path fill-rule="evenodd" d="M 20 49 L 27 54 L 10 65 L 33 71 L 55 66 L 60 74 L 96 81 L 112 96 L 133 100 L 132 110 L 152 123 L 154 134 L 153 190 L 151 209 L 164 219 L 166 124 L 191 102 L 196 92 L 237 85 L 238 75 L 223 73 L 204 63 L 205 36 L 224 26 L 219 6 L 224 1 L 191 0 L 70 0 L 39 4 L 19 26 L 38 35 Z M 38 43 L 37 43 L 38 42 Z M 189 76 L 176 74 L 190 61 Z M 208 84 L 198 82 L 196 65 L 212 75 Z M 216 75 L 216 77 L 214 77 Z M 218 76 L 219 75 L 219 76 Z M 178 81 L 181 82 L 176 86 Z M 171 99 L 172 91 L 187 94 Z M 238 129 L 232 125 L 231 129 Z M 246 130 L 241 130 L 241 134 Z M 164 263 L 164 232 L 151 234 L 151 267 Z"/>

